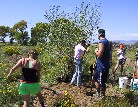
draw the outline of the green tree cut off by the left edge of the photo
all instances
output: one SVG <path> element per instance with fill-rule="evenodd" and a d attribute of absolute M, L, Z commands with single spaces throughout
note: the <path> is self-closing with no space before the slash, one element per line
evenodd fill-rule
<path fill-rule="evenodd" d="M 8 26 L 0 26 L 0 41 L 5 43 L 5 37 L 8 36 Z"/>

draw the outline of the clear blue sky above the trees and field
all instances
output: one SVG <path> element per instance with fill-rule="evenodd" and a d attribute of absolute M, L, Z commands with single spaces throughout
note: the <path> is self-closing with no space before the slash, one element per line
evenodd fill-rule
<path fill-rule="evenodd" d="M 60 10 L 72 13 L 82 1 L 101 6 L 100 28 L 105 29 L 108 40 L 138 40 L 138 0 L 1 0 L 0 26 L 13 27 L 25 20 L 30 32 L 36 23 L 46 22 L 44 15 L 50 6 L 60 6 Z"/>

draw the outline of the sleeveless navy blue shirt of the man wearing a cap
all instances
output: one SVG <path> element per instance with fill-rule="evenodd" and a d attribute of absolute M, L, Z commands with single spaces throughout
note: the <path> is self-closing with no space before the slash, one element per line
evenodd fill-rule
<path fill-rule="evenodd" d="M 97 71 L 109 70 L 110 67 L 110 43 L 107 39 L 100 40 L 99 43 L 104 45 L 102 57 L 97 58 Z"/>

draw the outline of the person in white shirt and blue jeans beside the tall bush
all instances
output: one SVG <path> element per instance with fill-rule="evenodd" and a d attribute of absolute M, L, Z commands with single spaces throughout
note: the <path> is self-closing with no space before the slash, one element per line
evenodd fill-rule
<path fill-rule="evenodd" d="M 81 74 L 82 74 L 83 55 L 85 54 L 85 52 L 89 51 L 89 48 L 86 49 L 85 46 L 86 46 L 85 40 L 81 40 L 80 43 L 75 46 L 74 62 L 76 66 L 76 71 L 71 79 L 71 83 L 70 83 L 71 85 L 75 83 L 76 79 L 77 79 L 77 86 L 82 85 Z"/>

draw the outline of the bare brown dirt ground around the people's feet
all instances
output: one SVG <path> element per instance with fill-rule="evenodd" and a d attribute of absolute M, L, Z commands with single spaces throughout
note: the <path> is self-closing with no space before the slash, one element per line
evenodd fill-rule
<path fill-rule="evenodd" d="M 45 85 L 43 85 L 45 86 Z M 67 91 L 69 95 L 72 96 L 75 103 L 79 105 L 79 107 L 93 107 L 95 101 L 95 97 L 93 97 L 93 93 L 95 93 L 95 87 L 94 85 L 91 88 L 91 83 L 87 82 L 84 83 L 83 86 L 77 87 L 70 85 L 69 83 L 58 83 L 51 86 L 51 89 L 56 90 L 58 92 L 64 92 Z M 60 96 L 54 94 L 52 91 L 48 89 L 42 90 L 44 101 L 47 105 L 47 107 L 52 107 L 52 103 L 55 101 L 55 99 Z M 107 84 L 107 91 L 106 96 L 115 96 L 117 95 L 116 90 L 113 90 L 113 87 L 111 84 Z M 37 105 L 36 105 L 37 104 Z M 38 107 L 38 101 L 35 102 L 35 107 Z"/>

